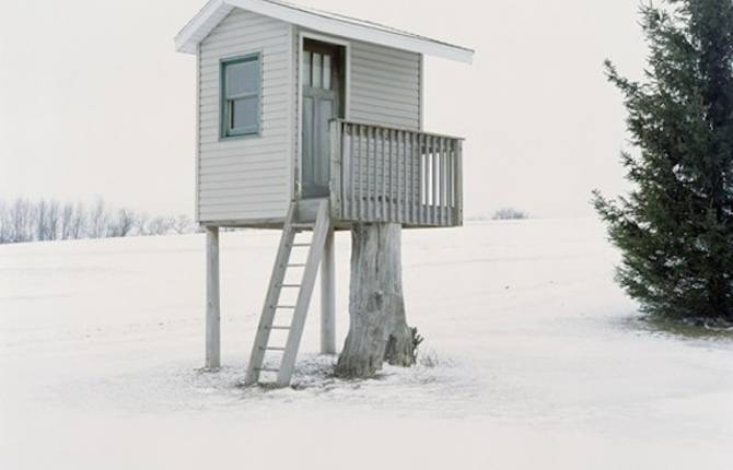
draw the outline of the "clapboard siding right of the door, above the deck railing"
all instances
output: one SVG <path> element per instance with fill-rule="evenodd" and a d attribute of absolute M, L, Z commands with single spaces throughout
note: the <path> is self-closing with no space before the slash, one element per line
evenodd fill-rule
<path fill-rule="evenodd" d="M 420 55 L 351 44 L 350 120 L 420 129 Z"/>

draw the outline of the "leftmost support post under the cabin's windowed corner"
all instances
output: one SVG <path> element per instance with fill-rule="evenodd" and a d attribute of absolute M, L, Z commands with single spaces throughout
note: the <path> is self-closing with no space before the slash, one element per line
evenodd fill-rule
<path fill-rule="evenodd" d="M 206 368 L 221 366 L 219 305 L 219 227 L 206 227 Z"/>

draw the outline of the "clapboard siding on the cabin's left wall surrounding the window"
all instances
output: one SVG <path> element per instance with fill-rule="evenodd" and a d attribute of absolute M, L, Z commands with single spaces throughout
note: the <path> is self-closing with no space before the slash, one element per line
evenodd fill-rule
<path fill-rule="evenodd" d="M 293 47 L 289 23 L 233 10 L 200 44 L 198 213 L 201 223 L 282 219 L 290 201 Z M 221 140 L 220 60 L 263 57 L 261 136 Z"/>

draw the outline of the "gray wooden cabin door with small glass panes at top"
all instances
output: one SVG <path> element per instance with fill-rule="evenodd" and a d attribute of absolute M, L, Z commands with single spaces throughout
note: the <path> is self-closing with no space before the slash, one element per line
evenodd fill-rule
<path fill-rule="evenodd" d="M 341 117 L 339 48 L 315 40 L 303 46 L 303 160 L 301 193 L 304 199 L 329 196 L 329 121 Z"/>

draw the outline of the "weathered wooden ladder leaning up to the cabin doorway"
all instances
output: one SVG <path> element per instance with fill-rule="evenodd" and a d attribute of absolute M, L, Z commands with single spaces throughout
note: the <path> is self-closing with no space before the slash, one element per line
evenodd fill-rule
<path fill-rule="evenodd" d="M 315 222 L 296 222 L 298 202 L 292 202 L 286 218 L 282 228 L 280 247 L 275 260 L 275 268 L 270 278 L 270 284 L 267 289 L 265 306 L 259 319 L 259 328 L 255 338 L 255 344 L 249 356 L 247 365 L 247 376 L 245 385 L 259 383 L 259 375 L 263 372 L 277 374 L 275 384 L 278 387 L 290 385 L 290 378 L 295 366 L 298 348 L 300 346 L 305 326 L 313 287 L 315 285 L 318 265 L 323 257 L 326 237 L 330 230 L 329 201 L 322 200 Z M 313 237 L 310 243 L 295 243 L 295 235 L 301 232 L 313 231 Z M 307 260 L 304 265 L 291 262 L 293 248 L 307 248 Z M 300 284 L 286 284 L 286 274 L 289 270 L 302 269 L 303 277 Z M 295 305 L 281 305 L 281 294 L 283 290 L 294 290 L 298 292 Z M 277 324 L 278 316 L 283 312 L 292 312 L 292 320 L 289 325 Z M 288 331 L 288 340 L 284 345 L 270 345 L 270 332 L 274 330 Z M 280 366 L 275 368 L 265 367 L 265 356 L 267 353 L 281 353 Z"/>

